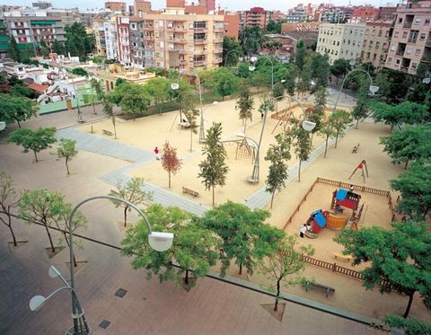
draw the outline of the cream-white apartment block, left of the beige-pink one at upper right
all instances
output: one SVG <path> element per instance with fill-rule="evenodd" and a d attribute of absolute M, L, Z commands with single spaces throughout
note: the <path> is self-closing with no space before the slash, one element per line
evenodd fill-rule
<path fill-rule="evenodd" d="M 361 57 L 365 25 L 321 23 L 316 51 L 328 55 L 330 64 L 336 59 Z"/>

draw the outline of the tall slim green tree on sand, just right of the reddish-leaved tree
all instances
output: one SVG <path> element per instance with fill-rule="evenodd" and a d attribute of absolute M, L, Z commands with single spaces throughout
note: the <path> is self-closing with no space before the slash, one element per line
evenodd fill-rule
<path fill-rule="evenodd" d="M 207 157 L 199 163 L 200 172 L 198 178 L 202 178 L 202 183 L 205 185 L 205 190 L 213 190 L 213 207 L 215 206 L 214 189 L 217 185 L 224 186 L 226 182 L 226 174 L 229 171 L 225 163 L 226 152 L 221 142 L 222 124 L 214 123 L 207 130 L 207 138 L 202 147 L 202 154 Z"/>

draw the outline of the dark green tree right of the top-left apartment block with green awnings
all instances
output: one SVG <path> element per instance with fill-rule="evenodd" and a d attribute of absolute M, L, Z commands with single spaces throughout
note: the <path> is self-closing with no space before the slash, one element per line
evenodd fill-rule
<path fill-rule="evenodd" d="M 94 36 L 87 34 L 85 26 L 81 22 L 66 24 L 66 51 L 71 56 L 77 56 L 81 61 L 87 59 L 94 48 Z"/>

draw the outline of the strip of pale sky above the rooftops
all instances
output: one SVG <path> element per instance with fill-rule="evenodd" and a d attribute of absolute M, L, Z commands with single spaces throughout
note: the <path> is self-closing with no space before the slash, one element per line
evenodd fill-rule
<path fill-rule="evenodd" d="M 31 5 L 32 0 L 0 0 L 0 4 L 14 4 L 14 5 Z M 126 0 L 128 4 L 133 4 L 133 0 Z M 198 2 L 197 0 L 195 2 Z M 80 9 L 94 8 L 99 7 L 102 8 L 104 1 L 95 0 L 51 0 L 51 3 L 54 7 L 57 8 L 71 8 L 78 7 Z M 264 7 L 268 10 L 280 10 L 282 12 L 286 12 L 289 8 L 295 6 L 295 4 L 321 4 L 321 3 L 331 3 L 336 5 L 347 5 L 348 0 L 216 0 L 216 5 L 220 4 L 221 8 L 227 7 L 228 10 L 246 10 L 251 7 L 259 6 Z M 350 0 L 350 4 L 373 4 L 374 6 L 385 5 L 387 4 L 387 0 Z M 396 2 L 393 1 L 393 4 Z M 166 4 L 166 0 L 152 0 L 153 8 L 159 9 L 163 8 Z"/>

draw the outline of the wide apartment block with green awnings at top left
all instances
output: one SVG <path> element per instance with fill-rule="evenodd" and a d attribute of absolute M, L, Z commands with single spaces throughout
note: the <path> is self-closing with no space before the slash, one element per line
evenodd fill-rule
<path fill-rule="evenodd" d="M 5 16 L 9 33 L 18 44 L 37 46 L 44 40 L 48 47 L 54 40 L 66 40 L 64 24 L 60 18 L 47 16 Z"/>

